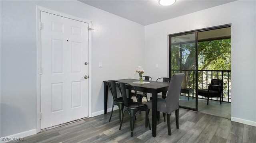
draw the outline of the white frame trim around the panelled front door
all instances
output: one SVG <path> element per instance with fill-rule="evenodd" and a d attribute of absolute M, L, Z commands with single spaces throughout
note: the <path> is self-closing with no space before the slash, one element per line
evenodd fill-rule
<path fill-rule="evenodd" d="M 36 6 L 36 53 L 37 53 L 37 69 L 36 69 L 36 91 L 37 91 L 37 110 L 36 110 L 36 133 L 39 133 L 41 131 L 41 119 L 40 119 L 40 113 L 41 113 L 41 29 L 40 29 L 40 22 L 41 22 L 41 12 L 47 12 L 50 14 L 54 14 L 57 16 L 62 16 L 64 18 L 69 18 L 72 20 L 77 20 L 80 22 L 85 22 L 89 24 L 89 28 L 92 27 L 92 23 L 90 20 L 85 20 L 83 18 L 78 18 L 75 16 L 71 16 L 68 14 L 64 14 L 61 12 L 57 12 L 54 10 L 50 10 L 47 8 L 43 8 L 41 6 Z M 92 75 L 92 32 L 89 30 L 88 33 L 88 76 L 91 77 Z M 88 117 L 92 117 L 92 79 L 88 78 Z"/>

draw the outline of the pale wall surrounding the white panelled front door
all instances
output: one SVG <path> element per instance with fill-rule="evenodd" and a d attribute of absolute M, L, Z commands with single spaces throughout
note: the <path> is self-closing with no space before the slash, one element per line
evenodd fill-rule
<path fill-rule="evenodd" d="M 78 1 L 1 0 L 1 137 L 36 129 L 36 5 L 92 20 L 92 113 L 103 113 L 103 80 L 138 78 L 144 66 L 140 24 Z"/>

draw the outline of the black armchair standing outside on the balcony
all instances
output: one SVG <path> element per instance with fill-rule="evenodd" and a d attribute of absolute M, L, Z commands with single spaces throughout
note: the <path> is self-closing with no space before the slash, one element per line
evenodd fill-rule
<path fill-rule="evenodd" d="M 207 83 L 199 83 L 199 84 L 206 84 L 208 88 L 206 89 L 198 89 L 198 95 L 204 96 L 207 98 L 207 105 L 209 105 L 209 98 L 218 97 L 220 98 L 221 104 L 221 97 L 222 97 L 222 90 L 223 90 L 223 80 L 222 79 L 212 79 L 210 84 Z M 207 87 L 207 86 L 206 86 Z"/>

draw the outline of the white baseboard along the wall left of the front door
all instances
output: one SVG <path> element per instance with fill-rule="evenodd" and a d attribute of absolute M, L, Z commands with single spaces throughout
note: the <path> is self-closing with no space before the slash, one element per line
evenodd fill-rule
<path fill-rule="evenodd" d="M 11 139 L 27 137 L 27 136 L 34 135 L 34 134 L 36 134 L 36 129 L 31 129 L 29 131 L 24 131 L 24 132 L 21 132 L 21 133 L 16 133 L 14 135 L 8 135 L 6 137 L 1 137 L 1 143 L 6 143 L 8 141 L 11 141 Z M 6 140 L 6 141 L 2 141 L 2 140 Z"/>

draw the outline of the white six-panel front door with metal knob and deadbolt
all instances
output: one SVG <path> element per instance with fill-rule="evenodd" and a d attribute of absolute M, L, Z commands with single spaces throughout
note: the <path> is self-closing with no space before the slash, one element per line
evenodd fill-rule
<path fill-rule="evenodd" d="M 88 117 L 88 23 L 41 12 L 41 129 Z"/>

